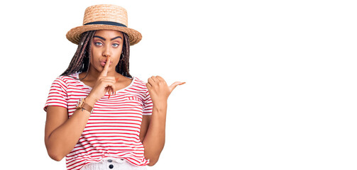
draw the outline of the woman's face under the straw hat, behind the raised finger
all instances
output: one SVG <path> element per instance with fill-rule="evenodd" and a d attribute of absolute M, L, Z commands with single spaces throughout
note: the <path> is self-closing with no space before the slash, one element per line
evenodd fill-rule
<path fill-rule="evenodd" d="M 97 30 L 92 40 L 92 57 L 90 67 L 101 72 L 109 57 L 108 72 L 115 72 L 116 64 L 121 58 L 123 33 L 117 30 Z"/>

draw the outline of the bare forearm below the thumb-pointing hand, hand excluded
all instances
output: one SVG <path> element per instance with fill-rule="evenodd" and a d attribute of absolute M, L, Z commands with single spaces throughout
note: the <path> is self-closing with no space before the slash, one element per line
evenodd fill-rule
<path fill-rule="evenodd" d="M 143 140 L 146 159 L 150 159 L 150 166 L 158 162 L 161 151 L 165 145 L 165 124 L 166 124 L 167 103 L 160 106 L 153 105 L 148 132 Z"/>

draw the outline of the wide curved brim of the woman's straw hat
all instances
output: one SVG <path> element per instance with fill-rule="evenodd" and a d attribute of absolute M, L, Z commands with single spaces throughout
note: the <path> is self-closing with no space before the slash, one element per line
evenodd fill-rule
<path fill-rule="evenodd" d="M 119 30 L 128 35 L 130 45 L 135 45 L 141 40 L 141 33 L 139 33 L 137 30 L 134 30 L 132 28 L 126 28 L 121 26 L 110 26 L 104 24 L 86 25 L 86 26 L 78 26 L 72 28 L 70 31 L 67 32 L 66 37 L 68 40 L 70 40 L 70 42 L 73 42 L 76 45 L 78 45 L 80 40 L 80 35 L 89 30 Z"/>

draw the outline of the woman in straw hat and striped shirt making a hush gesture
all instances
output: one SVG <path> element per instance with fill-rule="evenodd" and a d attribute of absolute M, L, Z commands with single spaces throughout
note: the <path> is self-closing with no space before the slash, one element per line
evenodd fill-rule
<path fill-rule="evenodd" d="M 167 98 L 185 83 L 131 77 L 129 45 L 141 34 L 127 26 L 124 8 L 97 5 L 67 33 L 77 52 L 45 104 L 48 154 L 66 157 L 67 169 L 146 169 L 158 162 Z"/>

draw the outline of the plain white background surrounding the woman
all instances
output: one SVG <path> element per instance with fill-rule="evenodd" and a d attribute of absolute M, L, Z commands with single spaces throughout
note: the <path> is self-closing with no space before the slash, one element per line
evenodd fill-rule
<path fill-rule="evenodd" d="M 50 84 L 84 9 L 116 4 L 143 34 L 131 74 L 168 84 L 162 169 L 357 169 L 355 1 L 6 1 L 0 169 L 65 169 L 44 145 Z"/>

